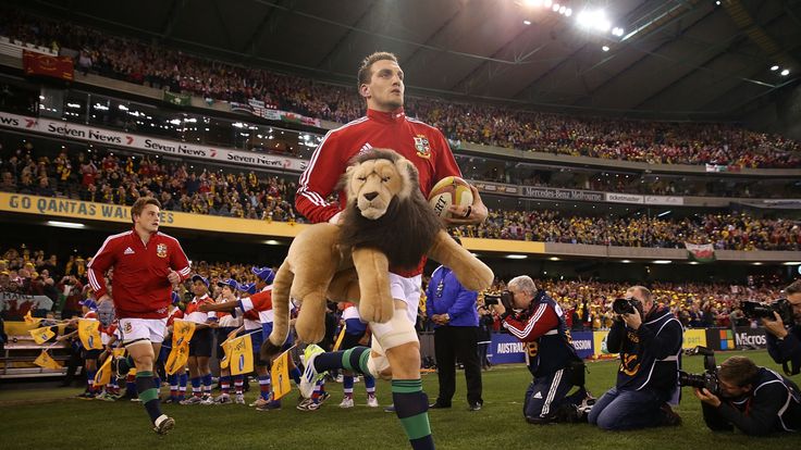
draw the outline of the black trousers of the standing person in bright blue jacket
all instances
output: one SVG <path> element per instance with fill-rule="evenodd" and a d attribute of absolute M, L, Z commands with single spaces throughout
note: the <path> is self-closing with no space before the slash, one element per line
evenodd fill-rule
<path fill-rule="evenodd" d="M 465 365 L 467 401 L 483 403 L 481 398 L 481 362 L 478 354 L 478 326 L 441 326 L 434 329 L 436 374 L 440 378 L 438 403 L 449 405 L 456 393 L 456 358 Z"/>

